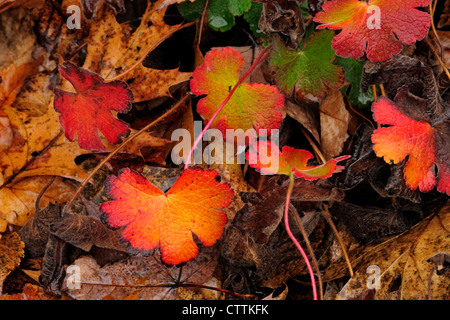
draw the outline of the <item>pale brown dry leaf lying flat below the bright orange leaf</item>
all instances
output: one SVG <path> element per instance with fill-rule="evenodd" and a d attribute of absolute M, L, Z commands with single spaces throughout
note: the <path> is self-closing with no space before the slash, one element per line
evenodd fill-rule
<path fill-rule="evenodd" d="M 183 265 L 180 281 L 207 283 L 217 266 L 218 255 L 217 245 L 202 248 L 195 260 Z M 72 266 L 80 268 L 80 288 L 71 288 L 71 275 L 68 274 L 62 289 L 76 300 L 178 298 L 173 285 L 179 277 L 180 268 L 163 265 L 158 251 L 149 257 L 132 256 L 103 267 L 91 256 L 85 256 L 75 260 Z"/>

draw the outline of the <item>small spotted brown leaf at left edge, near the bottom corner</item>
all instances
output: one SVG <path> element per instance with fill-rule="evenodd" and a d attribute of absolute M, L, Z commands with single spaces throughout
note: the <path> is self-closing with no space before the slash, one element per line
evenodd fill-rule
<path fill-rule="evenodd" d="M 17 268 L 24 257 L 25 245 L 16 232 L 7 232 L 0 238 L 0 295 L 5 278 Z"/>

